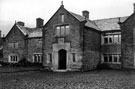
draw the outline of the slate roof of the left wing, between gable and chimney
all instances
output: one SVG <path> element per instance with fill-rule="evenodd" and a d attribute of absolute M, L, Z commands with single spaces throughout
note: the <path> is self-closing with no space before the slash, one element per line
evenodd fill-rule
<path fill-rule="evenodd" d="M 26 36 L 28 35 L 29 38 L 31 37 L 42 37 L 42 29 L 41 28 L 28 28 L 21 25 L 16 24 L 19 30 Z"/>

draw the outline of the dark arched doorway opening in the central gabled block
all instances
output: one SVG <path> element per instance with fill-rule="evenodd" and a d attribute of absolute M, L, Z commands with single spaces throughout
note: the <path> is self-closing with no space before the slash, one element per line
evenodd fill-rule
<path fill-rule="evenodd" d="M 66 69 L 67 52 L 64 49 L 59 50 L 59 66 L 58 69 Z"/>

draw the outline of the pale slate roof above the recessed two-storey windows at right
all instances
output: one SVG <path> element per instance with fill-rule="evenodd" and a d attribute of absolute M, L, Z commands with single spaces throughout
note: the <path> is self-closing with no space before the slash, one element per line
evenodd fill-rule
<path fill-rule="evenodd" d="M 116 17 L 116 18 L 95 20 L 94 22 L 97 24 L 98 28 L 101 31 L 120 30 L 120 25 L 118 24 L 119 20 L 120 22 L 124 22 L 127 18 L 128 16 Z"/>

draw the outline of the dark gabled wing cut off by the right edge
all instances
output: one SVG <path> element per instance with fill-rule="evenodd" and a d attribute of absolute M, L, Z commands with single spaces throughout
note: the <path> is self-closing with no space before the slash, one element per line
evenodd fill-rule
<path fill-rule="evenodd" d="M 135 68 L 135 4 L 134 12 L 124 22 L 119 22 L 121 26 L 121 55 L 123 68 Z"/>

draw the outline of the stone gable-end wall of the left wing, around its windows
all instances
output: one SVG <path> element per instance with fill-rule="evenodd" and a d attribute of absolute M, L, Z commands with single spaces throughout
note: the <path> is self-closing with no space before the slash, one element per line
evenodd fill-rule
<path fill-rule="evenodd" d="M 4 61 L 8 62 L 8 57 L 10 54 L 17 54 L 19 56 L 19 60 L 21 60 L 27 55 L 26 42 L 24 39 L 25 37 L 22 32 L 18 30 L 16 25 L 14 25 L 7 37 L 5 38 L 5 42 L 3 45 Z M 18 48 L 9 48 L 8 43 L 10 42 L 18 42 Z"/>

